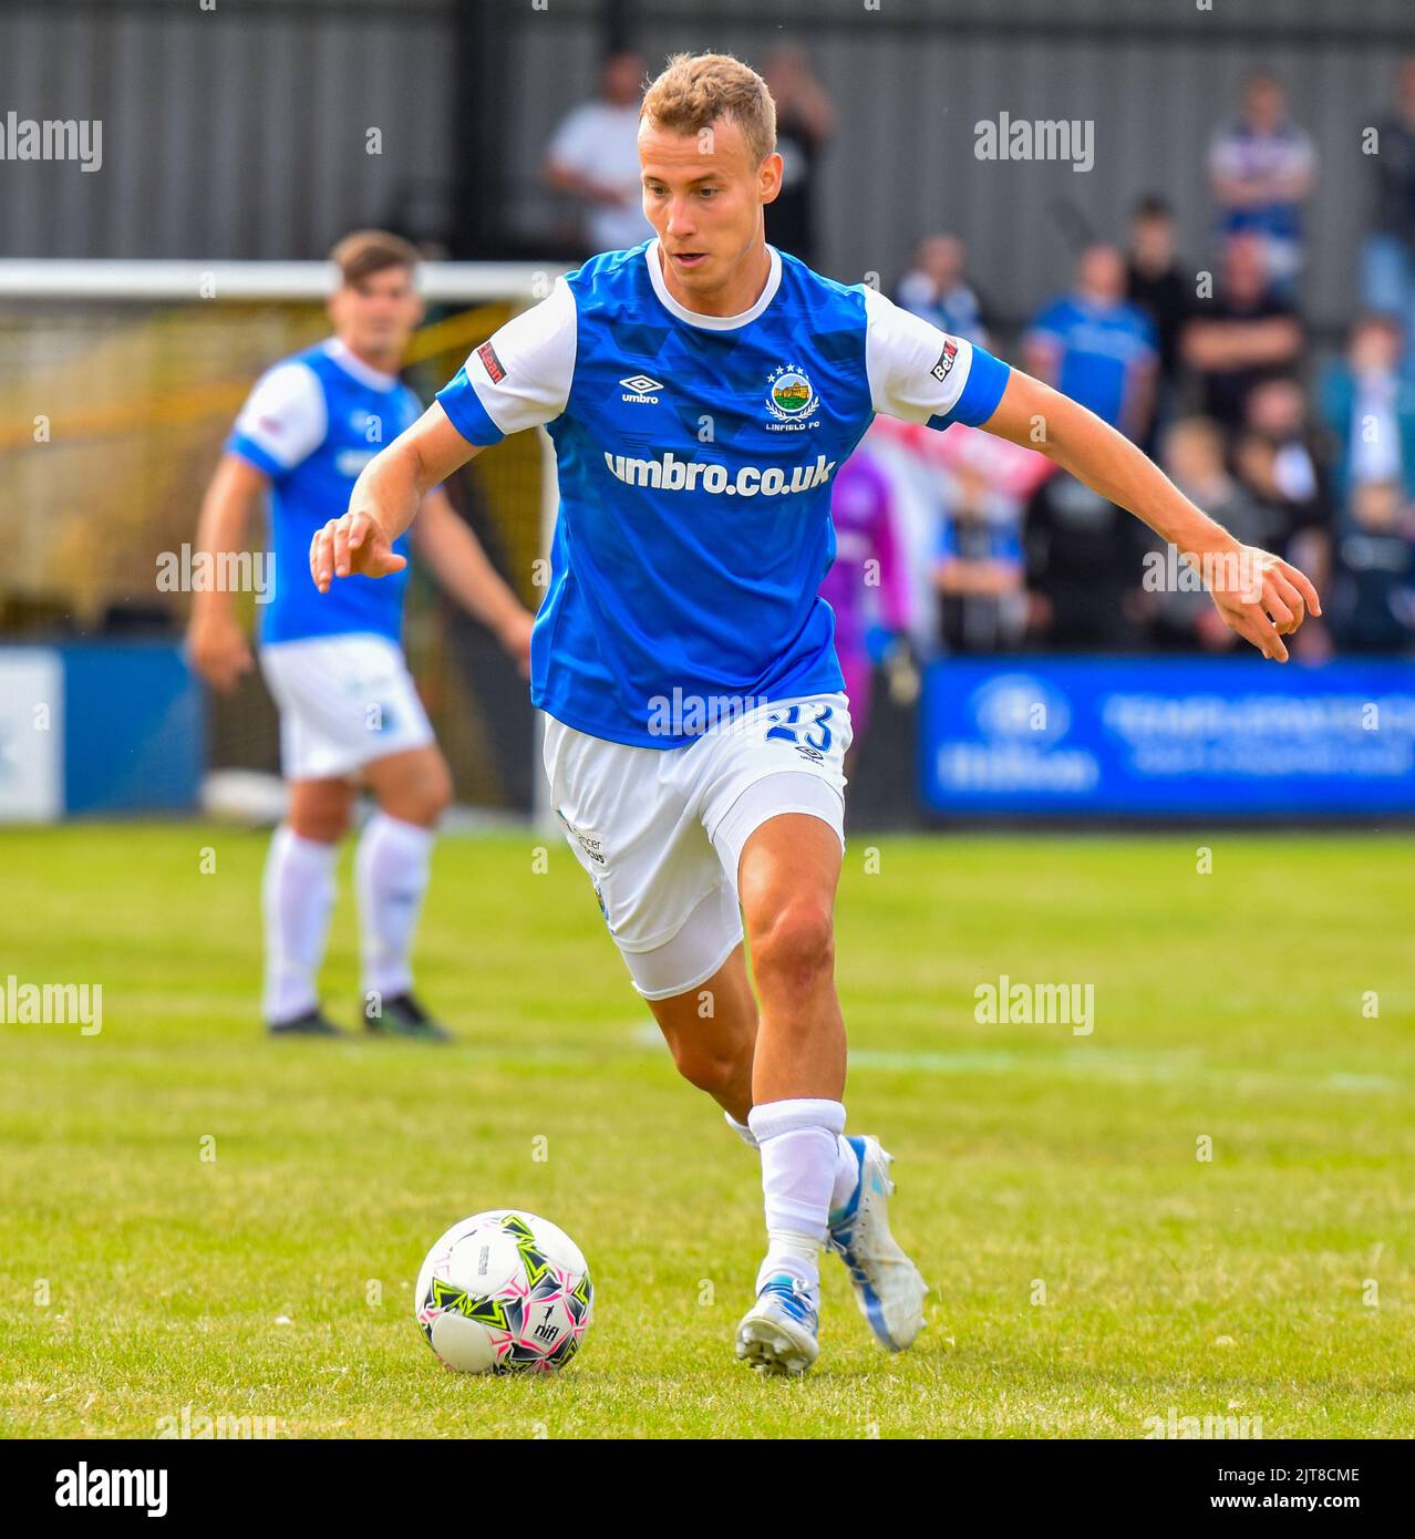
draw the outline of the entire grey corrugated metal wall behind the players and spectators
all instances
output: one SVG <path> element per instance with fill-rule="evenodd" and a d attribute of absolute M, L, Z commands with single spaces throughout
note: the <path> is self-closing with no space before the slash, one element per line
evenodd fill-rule
<path fill-rule="evenodd" d="M 1360 131 L 1415 51 L 1410 0 L 483 0 L 503 8 L 496 185 L 507 219 L 534 225 L 540 152 L 593 89 L 605 11 L 650 62 L 724 48 L 761 63 L 804 42 L 838 103 L 822 169 L 822 266 L 891 283 L 932 229 L 968 239 L 979 280 L 1025 314 L 1064 269 L 1076 215 L 1118 231 L 1146 191 L 1178 206 L 1204 260 L 1204 151 L 1247 69 L 1275 69 L 1321 154 L 1309 299 L 1349 309 L 1369 200 Z M 474 111 L 456 78 L 453 0 L 79 0 L 0 15 L 0 111 L 105 120 L 105 169 L 0 163 L 8 255 L 286 257 L 414 199 L 447 205 L 457 168 L 450 114 Z M 474 71 L 476 74 L 476 71 Z M 985 163 L 973 125 L 1090 119 L 1095 169 Z M 370 126 L 383 154 L 368 155 Z"/>

